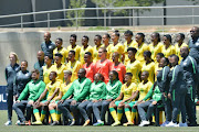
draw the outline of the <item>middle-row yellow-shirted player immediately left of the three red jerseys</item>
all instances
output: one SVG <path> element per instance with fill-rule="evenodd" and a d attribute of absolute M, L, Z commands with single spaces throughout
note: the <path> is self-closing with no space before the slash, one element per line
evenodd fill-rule
<path fill-rule="evenodd" d="M 69 52 L 67 59 L 69 62 L 66 64 L 66 69 L 70 69 L 73 73 L 71 77 L 71 81 L 74 81 L 75 79 L 77 79 L 77 72 L 82 67 L 82 65 L 78 61 L 75 59 L 74 51 Z"/>

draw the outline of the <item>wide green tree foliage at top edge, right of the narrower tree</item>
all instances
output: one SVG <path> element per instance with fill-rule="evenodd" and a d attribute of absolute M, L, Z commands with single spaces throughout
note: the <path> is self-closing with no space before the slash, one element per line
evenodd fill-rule
<path fill-rule="evenodd" d="M 101 8 L 114 8 L 114 7 L 149 7 L 155 3 L 161 3 L 165 0 L 92 0 L 92 1 Z M 137 15 L 139 15 L 139 12 L 143 13 L 145 10 L 136 10 Z M 111 18 L 112 13 L 124 14 L 124 15 L 128 13 L 127 10 L 107 10 L 106 12 L 108 13 L 108 18 Z M 111 25 L 111 19 L 108 20 L 108 25 Z"/>

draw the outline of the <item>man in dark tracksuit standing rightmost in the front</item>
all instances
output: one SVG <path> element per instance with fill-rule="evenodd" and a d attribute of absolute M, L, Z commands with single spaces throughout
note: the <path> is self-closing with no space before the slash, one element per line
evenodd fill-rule
<path fill-rule="evenodd" d="M 198 70 L 197 70 L 197 63 L 195 58 L 189 56 L 189 48 L 188 47 L 181 47 L 180 48 L 180 55 L 182 57 L 182 61 L 180 63 L 180 66 L 184 68 L 184 77 L 185 81 L 187 84 L 187 95 L 186 95 L 186 109 L 187 109 L 187 116 L 189 125 L 196 127 L 196 82 L 198 77 Z"/>

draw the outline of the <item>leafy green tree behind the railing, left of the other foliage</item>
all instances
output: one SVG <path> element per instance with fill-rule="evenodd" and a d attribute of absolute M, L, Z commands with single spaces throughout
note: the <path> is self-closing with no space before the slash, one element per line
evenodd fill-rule
<path fill-rule="evenodd" d="M 74 8 L 85 8 L 87 0 L 70 0 L 69 9 Z M 85 13 L 85 10 L 71 10 L 66 12 L 66 18 L 72 19 L 67 25 L 75 26 L 76 25 L 76 19 L 75 18 L 82 18 Z M 84 20 L 78 19 L 77 26 L 83 25 Z"/>

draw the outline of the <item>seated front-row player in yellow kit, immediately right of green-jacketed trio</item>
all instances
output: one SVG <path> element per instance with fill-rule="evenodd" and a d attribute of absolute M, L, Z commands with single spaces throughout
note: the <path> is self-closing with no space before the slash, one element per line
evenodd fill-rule
<path fill-rule="evenodd" d="M 109 112 L 115 121 L 112 124 L 112 127 L 116 127 L 121 124 L 121 119 L 123 117 L 123 109 L 125 107 L 125 103 L 132 99 L 132 95 L 134 95 L 134 92 L 137 90 L 136 84 L 132 82 L 132 77 L 133 77 L 132 73 L 125 74 L 125 84 L 121 88 L 119 96 L 109 103 Z M 117 109 L 117 113 L 115 109 Z M 130 125 L 130 124 L 134 124 L 132 120 L 124 125 Z"/>

